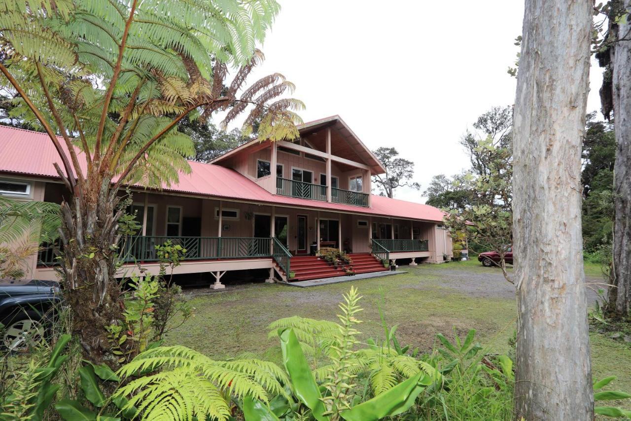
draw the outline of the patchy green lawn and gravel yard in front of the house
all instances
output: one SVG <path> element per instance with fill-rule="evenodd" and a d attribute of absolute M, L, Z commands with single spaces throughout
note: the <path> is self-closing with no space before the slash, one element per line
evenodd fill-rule
<path fill-rule="evenodd" d="M 459 334 L 476 329 L 490 352 L 509 352 L 516 327 L 514 287 L 498 269 L 475 260 L 401 269 L 408 273 L 313 288 L 248 284 L 220 292 L 187 290 L 196 315 L 172 331 L 167 344 L 189 346 L 211 358 L 251 352 L 280 363 L 280 347 L 268 339 L 269 323 L 290 315 L 336 320 L 342 293 L 354 284 L 363 295 L 363 340 L 384 336 L 378 310 L 383 297 L 387 323 L 397 324 L 399 340 L 412 348 L 430 350 L 436 333 L 451 337 L 455 327 Z M 586 273 L 588 281 L 600 281 L 595 267 L 586 267 Z M 592 305 L 593 291 L 588 299 Z M 594 378 L 616 375 L 611 386 L 631 391 L 631 346 L 597 333 L 591 339 Z"/>

